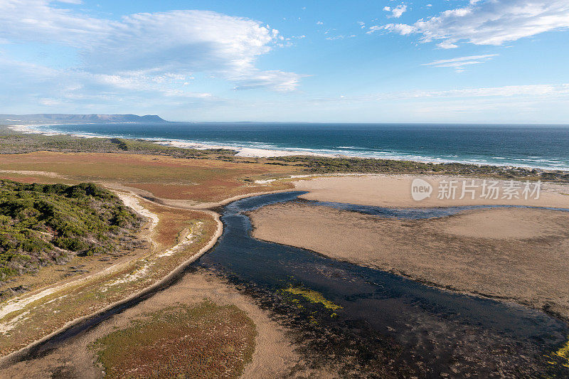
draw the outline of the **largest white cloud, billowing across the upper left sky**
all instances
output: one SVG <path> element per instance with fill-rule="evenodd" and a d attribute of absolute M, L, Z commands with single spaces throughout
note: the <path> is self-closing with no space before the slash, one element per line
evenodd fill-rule
<path fill-rule="evenodd" d="M 78 1 L 67 0 L 67 3 Z M 202 72 L 264 87 L 294 89 L 299 75 L 255 68 L 277 46 L 279 33 L 260 21 L 213 11 L 132 14 L 119 21 L 62 9 L 48 0 L 0 1 L 0 38 L 57 43 L 78 49 L 80 69 L 92 74 L 147 77 Z M 267 80 L 271 78 L 270 80 Z"/>

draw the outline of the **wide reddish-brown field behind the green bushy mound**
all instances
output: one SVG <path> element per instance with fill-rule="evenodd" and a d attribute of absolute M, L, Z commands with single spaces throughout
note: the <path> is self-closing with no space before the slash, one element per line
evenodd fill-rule
<path fill-rule="evenodd" d="M 39 174 L 0 172 L 0 178 L 16 181 L 93 181 L 139 188 L 159 198 L 198 202 L 220 201 L 245 193 L 267 191 L 267 186 L 256 185 L 250 178 L 292 174 L 290 167 L 263 163 L 51 151 L 0 155 L 0 170 L 47 171 L 63 176 L 50 178 Z"/>

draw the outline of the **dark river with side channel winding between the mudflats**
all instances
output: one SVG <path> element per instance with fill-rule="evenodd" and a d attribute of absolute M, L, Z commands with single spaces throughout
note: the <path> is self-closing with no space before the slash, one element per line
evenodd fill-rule
<path fill-rule="evenodd" d="M 369 377 L 569 375 L 550 356 L 565 343 L 568 328 L 542 311 L 427 287 L 251 237 L 246 212 L 297 201 L 302 193 L 272 193 L 226 205 L 223 235 L 195 265 L 227 277 L 270 309 L 294 331 L 295 342 L 315 365 L 334 363 L 341 373 Z M 442 217 L 465 209 L 309 203 L 398 218 Z"/>

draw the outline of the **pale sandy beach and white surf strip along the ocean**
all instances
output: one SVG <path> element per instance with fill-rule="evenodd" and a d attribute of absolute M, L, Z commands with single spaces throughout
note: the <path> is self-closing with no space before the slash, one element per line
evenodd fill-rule
<path fill-rule="evenodd" d="M 62 124 L 21 124 L 21 125 L 6 125 L 8 129 L 14 132 L 22 134 L 40 134 L 44 136 L 70 136 L 78 138 L 119 138 L 119 139 L 134 139 L 142 140 L 147 142 L 152 142 L 154 144 L 159 144 L 162 146 L 173 146 L 180 149 L 197 149 L 197 150 L 208 150 L 208 149 L 227 149 L 237 151 L 235 156 L 241 158 L 278 158 L 287 156 L 319 156 L 324 158 L 357 158 L 357 159 L 377 159 L 377 160 L 390 160 L 390 161 L 411 161 L 418 162 L 422 164 L 469 164 L 473 166 L 496 166 L 502 168 L 514 168 L 514 169 L 536 169 L 541 171 L 562 171 L 569 172 L 569 167 L 551 167 L 551 166 L 538 166 L 530 164 L 515 164 L 515 163 L 499 163 L 493 161 L 480 161 L 468 160 L 468 159 L 438 159 L 432 157 L 422 157 L 422 156 L 393 156 L 393 155 L 374 155 L 374 154 L 353 154 L 353 151 L 335 151 L 335 150 L 324 150 L 324 149 L 302 149 L 302 148 L 266 148 L 266 147 L 251 147 L 251 146 L 239 146 L 230 144 L 216 144 L 214 142 L 198 142 L 198 141 L 188 141 L 179 139 L 164 139 L 164 138 L 135 138 L 135 137 L 122 137 L 117 135 L 105 135 L 105 134 L 90 134 L 90 133 L 67 133 L 60 132 L 57 130 L 50 130 L 48 132 L 42 132 L 41 130 L 34 129 L 33 127 L 47 127 L 47 126 L 58 126 Z"/>

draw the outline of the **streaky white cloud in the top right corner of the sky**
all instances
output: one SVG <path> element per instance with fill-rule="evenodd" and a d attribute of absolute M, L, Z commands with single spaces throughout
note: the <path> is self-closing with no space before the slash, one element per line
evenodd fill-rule
<path fill-rule="evenodd" d="M 565 28 L 569 28 L 567 0 L 473 0 L 412 25 L 390 23 L 374 31 L 416 33 L 422 43 L 438 41 L 441 48 L 456 48 L 463 41 L 497 46 Z"/>

